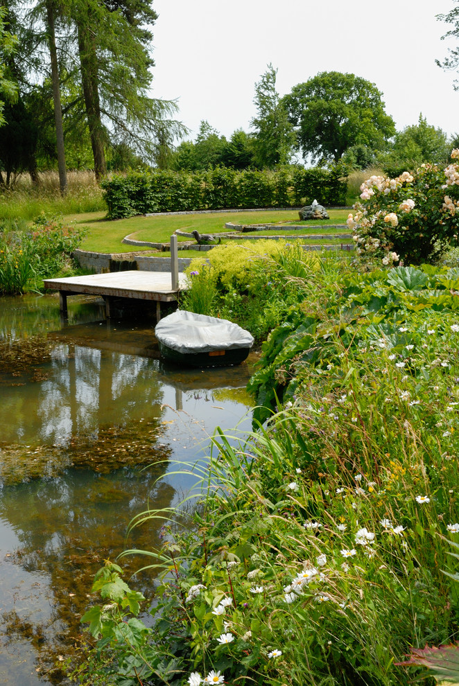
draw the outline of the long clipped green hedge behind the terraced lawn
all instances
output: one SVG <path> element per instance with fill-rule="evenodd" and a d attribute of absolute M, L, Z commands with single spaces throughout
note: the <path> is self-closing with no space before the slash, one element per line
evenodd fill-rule
<path fill-rule="evenodd" d="M 345 205 L 347 182 L 340 169 L 282 168 L 202 172 L 133 171 L 101 184 L 110 219 L 152 212 L 205 209 Z"/>

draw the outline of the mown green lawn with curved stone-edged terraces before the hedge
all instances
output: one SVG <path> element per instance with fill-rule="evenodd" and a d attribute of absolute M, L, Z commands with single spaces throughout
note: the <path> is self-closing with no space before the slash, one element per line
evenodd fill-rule
<path fill-rule="evenodd" d="M 146 247 L 133 248 L 132 245 L 121 243 L 125 236 L 131 236 L 136 240 L 150 240 L 153 243 L 168 243 L 171 234 L 175 229 L 191 232 L 197 229 L 200 234 L 221 233 L 225 229 L 225 222 L 234 224 L 265 224 L 291 222 L 296 225 L 316 226 L 305 233 L 343 233 L 345 229 L 325 229 L 330 224 L 345 224 L 347 210 L 329 210 L 330 219 L 327 221 L 313 220 L 311 222 L 300 222 L 296 210 L 270 210 L 260 212 L 228 212 L 228 213 L 209 213 L 209 214 L 171 214 L 170 216 L 144 217 L 137 216 L 129 219 L 106 220 L 105 212 L 90 212 L 85 214 L 73 214 L 64 217 L 66 222 L 76 222 L 89 228 L 89 233 L 81 245 L 83 250 L 94 252 L 132 252 L 134 249 L 145 249 Z M 322 229 L 323 227 L 323 229 Z M 286 235 L 295 235 L 297 231 L 288 231 Z M 268 235 L 270 232 L 268 232 Z M 284 231 L 282 231 L 284 234 Z M 263 235 L 263 234 L 261 234 Z M 243 235 L 241 234 L 241 238 Z M 179 240 L 187 240 L 185 238 Z"/>

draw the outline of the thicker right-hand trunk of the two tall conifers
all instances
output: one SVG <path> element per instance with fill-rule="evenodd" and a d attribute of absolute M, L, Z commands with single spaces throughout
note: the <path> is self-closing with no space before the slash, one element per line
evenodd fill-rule
<path fill-rule="evenodd" d="M 105 164 L 105 152 L 103 149 L 104 131 L 98 93 L 96 48 L 91 39 L 92 30 L 85 26 L 85 24 L 78 21 L 78 53 L 80 55 L 81 82 L 85 98 L 87 124 L 94 157 L 94 173 L 96 174 L 96 179 L 99 180 L 107 175 L 107 165 Z"/>

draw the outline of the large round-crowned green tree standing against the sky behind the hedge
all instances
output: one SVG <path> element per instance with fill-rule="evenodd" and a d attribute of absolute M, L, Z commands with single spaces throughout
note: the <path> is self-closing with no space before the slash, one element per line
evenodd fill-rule
<path fill-rule="evenodd" d="M 395 134 L 381 92 L 354 74 L 322 71 L 294 86 L 282 102 L 305 159 L 337 162 L 358 144 L 383 150 Z"/>

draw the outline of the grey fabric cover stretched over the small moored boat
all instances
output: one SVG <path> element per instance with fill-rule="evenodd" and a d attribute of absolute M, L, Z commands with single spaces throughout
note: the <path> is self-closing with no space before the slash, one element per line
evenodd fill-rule
<path fill-rule="evenodd" d="M 155 336 L 163 345 L 185 355 L 251 348 L 254 342 L 251 333 L 228 319 L 196 315 L 187 310 L 175 310 L 160 319 Z"/>

